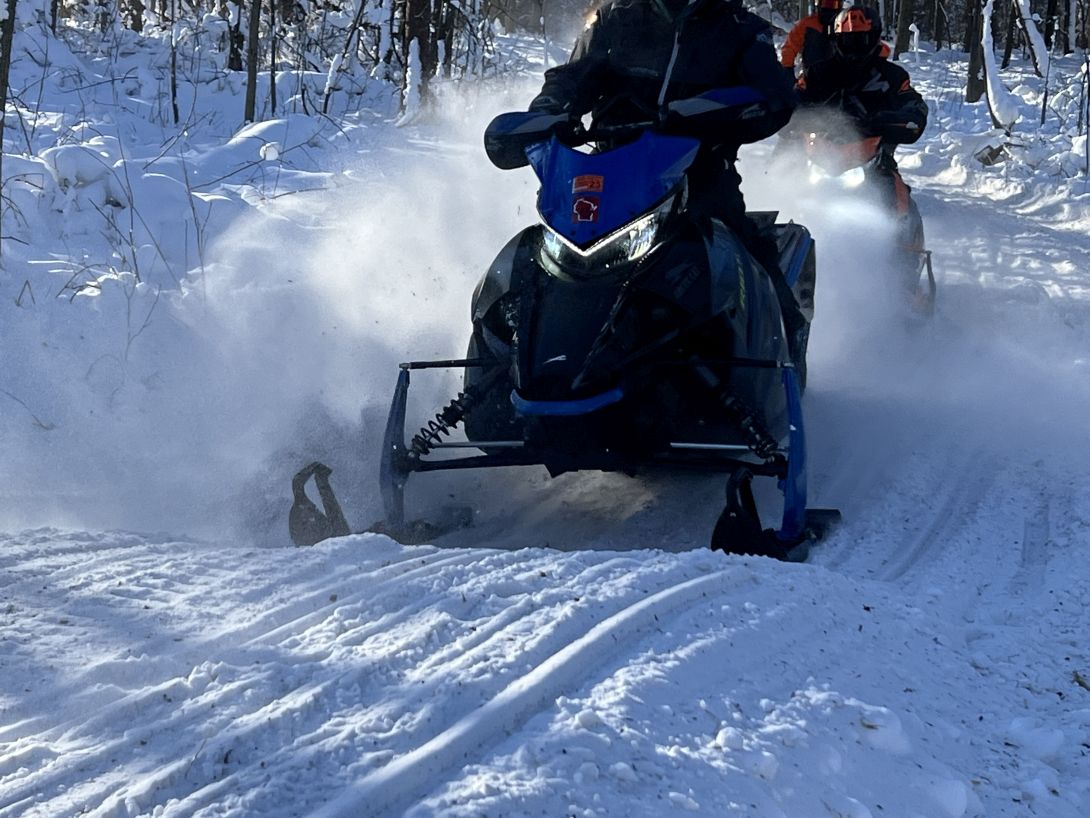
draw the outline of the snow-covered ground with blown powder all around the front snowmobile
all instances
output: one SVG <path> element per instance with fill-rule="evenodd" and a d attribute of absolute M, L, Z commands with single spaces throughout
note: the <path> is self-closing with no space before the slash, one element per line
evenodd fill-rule
<path fill-rule="evenodd" d="M 379 516 L 396 363 L 463 351 L 533 218 L 532 177 L 480 148 L 533 81 L 415 129 L 378 88 L 337 128 L 240 131 L 238 88 L 202 86 L 179 137 L 147 71 L 119 93 L 50 53 L 49 116 L 4 148 L 0 816 L 1090 809 L 1077 59 L 1041 129 L 1022 76 L 989 168 L 964 60 L 906 63 L 932 106 L 899 154 L 924 327 L 885 305 L 873 213 L 743 157 L 751 205 L 819 242 L 811 484 L 845 521 L 785 565 L 706 550 L 717 480 L 533 470 L 414 479 L 414 510 L 476 507 L 435 544 L 288 546 L 314 457 L 353 528 Z M 452 386 L 421 380 L 415 417 Z"/>

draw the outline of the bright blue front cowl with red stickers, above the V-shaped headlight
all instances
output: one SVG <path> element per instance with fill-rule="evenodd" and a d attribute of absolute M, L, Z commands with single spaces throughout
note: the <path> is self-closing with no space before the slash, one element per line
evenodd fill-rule
<path fill-rule="evenodd" d="M 554 136 L 526 149 L 542 183 L 537 212 L 553 230 L 586 248 L 675 190 L 699 147 L 693 139 L 645 131 L 613 151 L 584 154 Z"/>

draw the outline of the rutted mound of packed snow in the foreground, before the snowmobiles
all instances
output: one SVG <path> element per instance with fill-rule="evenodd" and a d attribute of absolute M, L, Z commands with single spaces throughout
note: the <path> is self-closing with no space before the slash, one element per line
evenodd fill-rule
<path fill-rule="evenodd" d="M 5 817 L 1021 815 L 1013 796 L 1066 817 L 1086 796 L 1063 677 L 1090 667 L 1085 622 L 1050 670 L 1010 612 L 970 625 L 938 591 L 703 550 L 43 530 L 3 554 Z M 1085 618 L 1085 580 L 1047 565 Z"/>

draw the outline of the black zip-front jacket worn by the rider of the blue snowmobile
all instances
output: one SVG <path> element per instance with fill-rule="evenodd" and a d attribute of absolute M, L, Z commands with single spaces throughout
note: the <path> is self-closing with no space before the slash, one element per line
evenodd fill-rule
<path fill-rule="evenodd" d="M 595 122 L 616 124 L 653 119 L 666 103 L 736 86 L 765 100 L 728 127 L 700 134 L 705 148 L 728 160 L 739 145 L 783 128 L 795 107 L 768 25 L 737 0 L 611 0 L 571 59 L 545 73 L 531 109 L 592 112 Z"/>

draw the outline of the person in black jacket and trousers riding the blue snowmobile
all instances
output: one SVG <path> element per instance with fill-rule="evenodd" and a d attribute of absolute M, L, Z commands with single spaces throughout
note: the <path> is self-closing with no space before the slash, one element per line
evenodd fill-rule
<path fill-rule="evenodd" d="M 610 0 L 576 44 L 571 59 L 545 73 L 530 109 L 592 113 L 600 124 L 657 120 L 670 128 L 667 106 L 699 94 L 749 87 L 763 99 L 739 105 L 701 133 L 690 172 L 691 206 L 722 219 L 772 277 L 788 330 L 804 321 L 779 269 L 775 244 L 746 215 L 735 168 L 738 147 L 771 136 L 790 119 L 791 82 L 779 68 L 768 24 L 741 0 Z"/>

